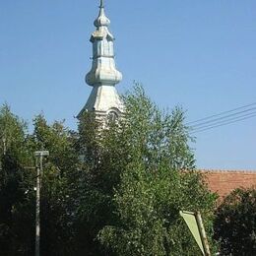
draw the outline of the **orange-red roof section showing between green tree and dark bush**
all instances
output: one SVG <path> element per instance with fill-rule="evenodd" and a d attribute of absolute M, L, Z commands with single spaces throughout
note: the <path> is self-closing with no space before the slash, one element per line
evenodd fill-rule
<path fill-rule="evenodd" d="M 209 189 L 224 198 L 238 187 L 256 186 L 256 171 L 239 170 L 200 170 L 205 174 Z"/>

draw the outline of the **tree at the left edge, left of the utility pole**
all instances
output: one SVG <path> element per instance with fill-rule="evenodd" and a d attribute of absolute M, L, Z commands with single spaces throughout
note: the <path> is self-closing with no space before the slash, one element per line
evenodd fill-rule
<path fill-rule="evenodd" d="M 0 247 L 4 255 L 30 254 L 32 244 L 32 171 L 27 124 L 8 105 L 0 108 Z M 4 140 L 3 140 L 4 139 Z"/>

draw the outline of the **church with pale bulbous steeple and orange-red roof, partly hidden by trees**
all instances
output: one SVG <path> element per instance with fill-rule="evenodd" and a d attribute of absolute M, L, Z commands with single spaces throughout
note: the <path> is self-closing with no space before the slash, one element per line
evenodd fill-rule
<path fill-rule="evenodd" d="M 94 23 L 96 31 L 90 41 L 93 43 L 92 69 L 86 75 L 86 83 L 93 87 L 78 118 L 86 111 L 94 112 L 96 119 L 105 122 L 122 116 L 124 105 L 115 86 L 121 82 L 122 74 L 114 60 L 114 36 L 109 32 L 110 20 L 106 17 L 103 0 Z M 209 189 L 219 194 L 222 200 L 235 188 L 249 188 L 256 185 L 256 171 L 199 169 Z"/>

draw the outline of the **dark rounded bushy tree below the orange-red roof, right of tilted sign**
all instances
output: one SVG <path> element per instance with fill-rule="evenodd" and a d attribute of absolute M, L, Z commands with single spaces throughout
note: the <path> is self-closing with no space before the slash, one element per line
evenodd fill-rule
<path fill-rule="evenodd" d="M 237 188 L 216 212 L 215 237 L 222 255 L 256 255 L 256 189 Z"/>

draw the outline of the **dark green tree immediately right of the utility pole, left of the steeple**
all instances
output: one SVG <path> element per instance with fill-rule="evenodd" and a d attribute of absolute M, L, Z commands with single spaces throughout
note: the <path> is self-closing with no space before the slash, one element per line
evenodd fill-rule
<path fill-rule="evenodd" d="M 78 166 L 73 137 L 63 122 L 48 125 L 42 115 L 34 118 L 33 126 L 30 149 L 32 152 L 47 150 L 50 154 L 44 160 L 41 178 L 41 253 L 55 255 L 57 251 L 69 255 L 73 253 L 74 236 L 71 178 Z"/>

